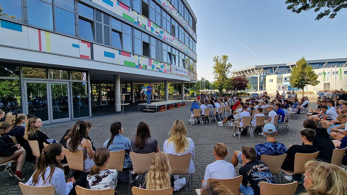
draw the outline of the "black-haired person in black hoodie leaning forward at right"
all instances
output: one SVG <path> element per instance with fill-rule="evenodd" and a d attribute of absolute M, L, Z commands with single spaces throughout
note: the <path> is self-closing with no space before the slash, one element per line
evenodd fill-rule
<path fill-rule="evenodd" d="M 330 163 L 335 146 L 331 141 L 327 130 L 324 128 L 318 128 L 317 123 L 312 119 L 305 120 L 303 125 L 304 128 L 313 129 L 316 132 L 316 136 L 313 140 L 313 147 L 319 150 L 317 159 Z"/>

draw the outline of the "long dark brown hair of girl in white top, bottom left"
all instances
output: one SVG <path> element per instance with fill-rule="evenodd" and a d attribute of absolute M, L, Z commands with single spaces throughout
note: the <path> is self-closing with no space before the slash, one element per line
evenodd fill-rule
<path fill-rule="evenodd" d="M 63 145 L 59 143 L 50 144 L 42 149 L 42 152 L 37 159 L 35 165 L 35 172 L 33 174 L 33 185 L 37 184 L 39 178 L 41 177 L 43 180 L 43 184 L 47 182 L 49 178 L 49 183 L 51 183 L 51 179 L 56 167 L 63 169 L 60 162 L 57 161 L 57 156 L 61 154 L 61 150 L 63 149 Z M 48 178 L 44 178 L 44 173 L 46 171 L 47 166 L 50 167 L 50 173 Z"/>

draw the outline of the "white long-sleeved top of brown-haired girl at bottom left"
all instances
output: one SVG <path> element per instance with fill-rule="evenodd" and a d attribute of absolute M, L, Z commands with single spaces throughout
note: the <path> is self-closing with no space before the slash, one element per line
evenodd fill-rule
<path fill-rule="evenodd" d="M 54 186 L 55 195 L 68 195 L 70 190 L 73 188 L 72 182 L 65 182 L 65 176 L 64 171 L 58 167 L 54 169 L 51 182 L 49 182 L 49 174 L 50 174 L 51 168 L 50 166 L 47 166 L 45 172 L 44 172 L 44 178 L 46 180 L 45 184 L 43 184 L 42 177 L 40 177 L 37 180 L 37 184 L 33 185 L 33 176 L 30 177 L 30 179 L 25 183 L 29 186 L 36 186 L 36 187 L 42 187 L 42 186 Z"/>

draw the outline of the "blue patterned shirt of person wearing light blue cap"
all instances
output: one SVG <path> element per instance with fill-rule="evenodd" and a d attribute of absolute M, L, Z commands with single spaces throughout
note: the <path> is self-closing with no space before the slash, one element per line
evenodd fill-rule
<path fill-rule="evenodd" d="M 263 144 L 257 144 L 254 147 L 257 153 L 256 160 L 260 160 L 262 154 L 276 156 L 286 153 L 287 148 L 285 145 L 279 142 L 265 142 Z"/>

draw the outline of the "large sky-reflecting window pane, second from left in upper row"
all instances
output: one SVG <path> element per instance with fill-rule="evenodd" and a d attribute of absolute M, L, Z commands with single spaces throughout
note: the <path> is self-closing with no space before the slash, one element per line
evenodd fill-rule
<path fill-rule="evenodd" d="M 53 30 L 53 6 L 40 0 L 27 0 L 28 24 Z"/>

